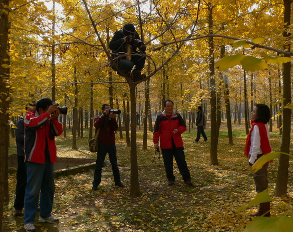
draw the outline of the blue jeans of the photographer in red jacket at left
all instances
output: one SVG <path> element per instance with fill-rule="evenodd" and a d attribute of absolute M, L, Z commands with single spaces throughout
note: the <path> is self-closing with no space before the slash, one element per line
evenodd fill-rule
<path fill-rule="evenodd" d="M 40 216 L 43 218 L 51 215 L 55 193 L 53 163 L 26 162 L 26 170 L 25 224 L 35 222 L 40 190 Z"/>

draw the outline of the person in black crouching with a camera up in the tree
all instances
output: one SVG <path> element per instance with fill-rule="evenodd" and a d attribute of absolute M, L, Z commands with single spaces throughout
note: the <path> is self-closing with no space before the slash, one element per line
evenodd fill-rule
<path fill-rule="evenodd" d="M 140 40 L 132 23 L 126 23 L 122 29 L 115 32 L 109 47 L 114 53 L 113 59 L 118 62 L 118 68 L 129 74 L 134 82 L 146 77 L 146 74 L 141 74 L 146 59 L 146 46 Z M 135 68 L 132 70 L 134 65 Z M 113 65 L 111 67 L 115 70 Z"/>

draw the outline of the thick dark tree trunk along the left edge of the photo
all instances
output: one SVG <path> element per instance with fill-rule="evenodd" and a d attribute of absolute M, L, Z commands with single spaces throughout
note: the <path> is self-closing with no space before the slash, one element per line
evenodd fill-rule
<path fill-rule="evenodd" d="M 8 144 L 9 144 L 9 4 L 10 0 L 2 0 L 0 4 L 0 231 L 4 202 L 9 201 L 8 192 Z"/>

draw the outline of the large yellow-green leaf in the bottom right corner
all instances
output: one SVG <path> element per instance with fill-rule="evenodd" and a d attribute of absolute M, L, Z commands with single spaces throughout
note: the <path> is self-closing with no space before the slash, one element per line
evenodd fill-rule
<path fill-rule="evenodd" d="M 255 217 L 250 221 L 243 232 L 286 232 L 292 231 L 293 217 Z"/>

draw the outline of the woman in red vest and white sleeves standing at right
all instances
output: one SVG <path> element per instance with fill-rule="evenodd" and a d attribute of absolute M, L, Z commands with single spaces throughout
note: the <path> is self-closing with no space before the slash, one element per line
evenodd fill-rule
<path fill-rule="evenodd" d="M 267 105 L 256 104 L 253 107 L 253 111 L 251 112 L 252 127 L 248 133 L 245 145 L 245 155 L 249 158 L 250 166 L 252 166 L 260 156 L 265 155 L 271 151 L 268 140 L 269 129 L 267 126 L 269 119 L 270 110 Z M 268 187 L 267 167 L 268 162 L 253 174 L 256 192 L 262 192 Z M 250 216 L 270 216 L 269 210 L 269 202 L 260 203 L 258 211 L 250 214 Z"/>

